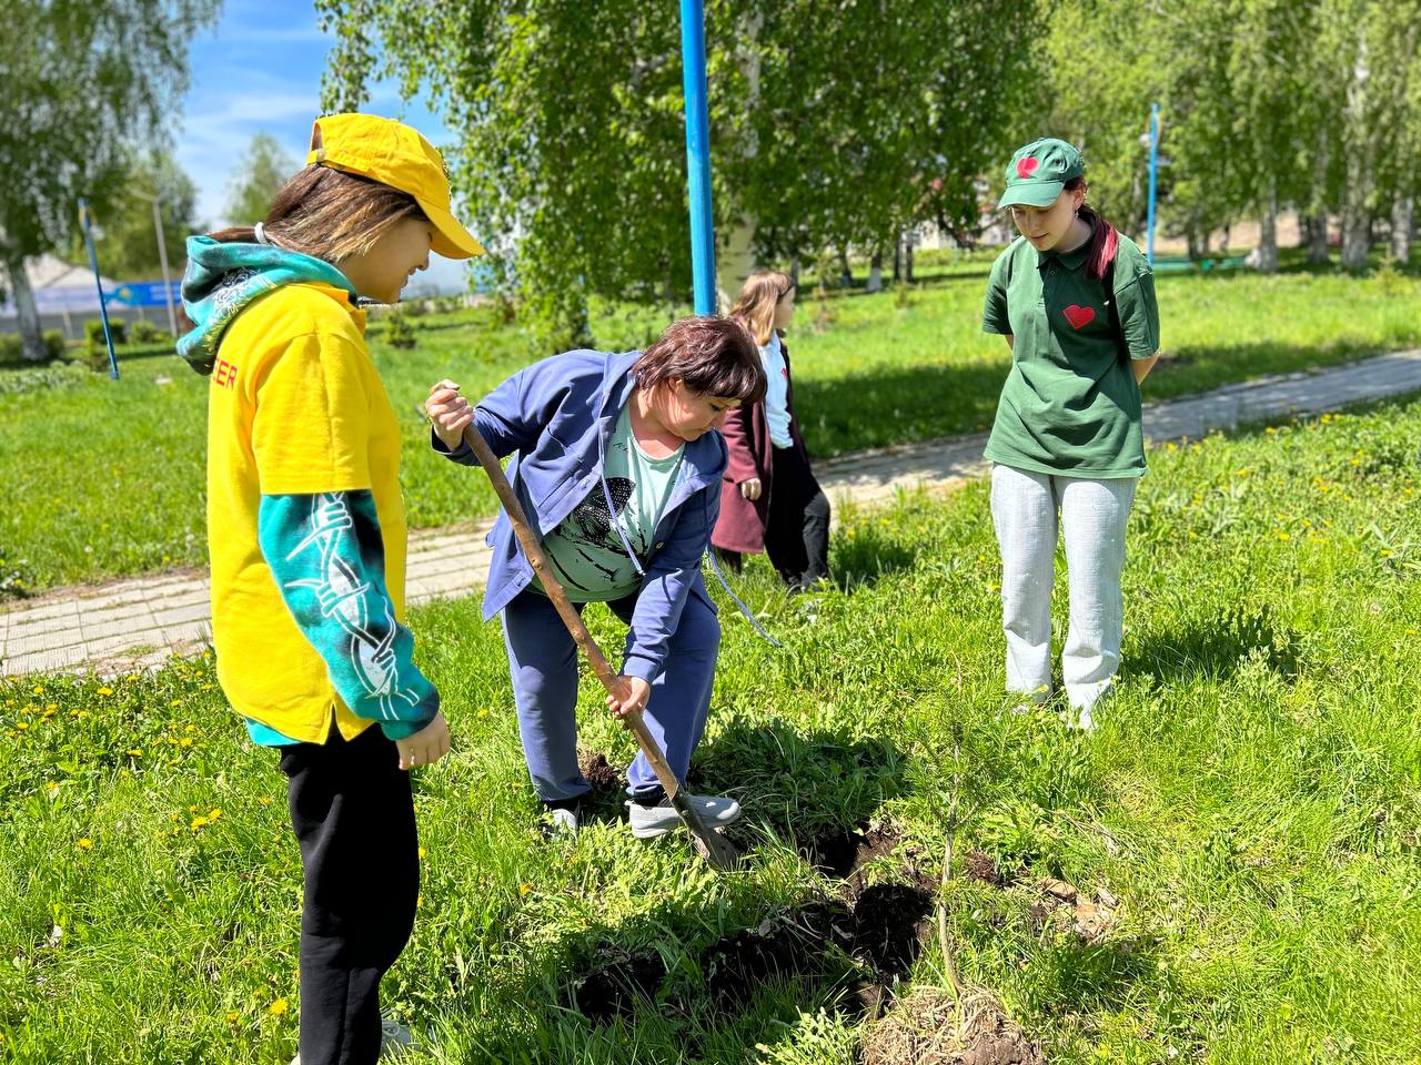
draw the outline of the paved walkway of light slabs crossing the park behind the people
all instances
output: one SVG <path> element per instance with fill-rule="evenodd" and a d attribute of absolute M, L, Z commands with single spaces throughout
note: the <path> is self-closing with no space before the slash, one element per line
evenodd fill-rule
<path fill-rule="evenodd" d="M 1349 403 L 1421 390 L 1421 351 L 1344 366 L 1226 385 L 1199 396 L 1145 406 L 1154 442 L 1196 439 L 1290 413 L 1336 410 Z M 928 440 L 816 463 L 824 490 L 843 506 L 874 506 L 899 488 L 942 491 L 986 469 L 986 435 Z M 465 595 L 487 569 L 483 535 L 490 523 L 411 535 L 408 596 L 412 604 Z M 207 578 L 183 571 L 98 586 L 61 588 L 0 612 L 0 674 L 94 667 L 142 669 L 210 642 Z"/>

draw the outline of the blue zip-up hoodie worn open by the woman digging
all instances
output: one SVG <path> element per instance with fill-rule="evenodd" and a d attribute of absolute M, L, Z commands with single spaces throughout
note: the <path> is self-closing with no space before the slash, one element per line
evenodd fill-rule
<path fill-rule="evenodd" d="M 493 453 L 500 459 L 517 453 L 507 467 L 509 481 L 540 537 L 557 528 L 590 491 L 598 486 L 607 490 L 607 444 L 637 386 L 632 366 L 639 356 L 639 351 L 554 355 L 514 373 L 475 408 L 475 427 Z M 432 432 L 431 440 L 453 462 L 477 466 L 469 444 L 448 452 Z M 649 683 L 661 673 L 688 595 L 699 595 L 716 609 L 701 579 L 701 558 L 720 513 L 720 477 L 728 460 L 725 440 L 716 432 L 686 443 L 651 554 L 632 557 L 642 582 L 627 633 L 627 676 Z M 523 557 L 507 514 L 499 514 L 487 542 L 493 561 L 483 594 L 485 621 L 533 579 L 533 567 Z"/>

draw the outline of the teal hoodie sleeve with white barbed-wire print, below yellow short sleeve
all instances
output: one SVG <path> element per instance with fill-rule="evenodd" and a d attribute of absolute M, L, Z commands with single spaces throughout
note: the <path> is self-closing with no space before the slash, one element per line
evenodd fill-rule
<path fill-rule="evenodd" d="M 423 728 L 439 693 L 414 663 L 414 635 L 395 621 L 375 497 L 364 488 L 263 496 L 257 540 L 345 706 L 391 740 Z"/>

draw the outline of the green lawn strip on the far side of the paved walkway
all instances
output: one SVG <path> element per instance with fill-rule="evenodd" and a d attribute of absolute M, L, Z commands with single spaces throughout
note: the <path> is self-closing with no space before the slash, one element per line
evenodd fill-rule
<path fill-rule="evenodd" d="M 1009 356 L 979 331 L 989 261 L 925 270 L 907 305 L 897 293 L 823 304 L 804 293 L 790 351 L 816 456 L 990 423 Z M 1241 273 L 1162 277 L 1158 288 L 1165 358 L 1145 388 L 1154 399 L 1421 344 L 1421 281 L 1404 275 Z M 634 348 L 666 314 L 604 310 L 593 327 L 605 346 Z M 489 515 L 492 491 L 429 452 L 416 408 L 443 376 L 470 395 L 493 388 L 524 364 L 526 338 L 483 311 L 411 321 L 419 346 L 408 352 L 372 329 L 405 432 L 411 523 Z M 205 564 L 206 382 L 175 356 L 134 359 L 122 373 L 64 373 L 24 392 L 7 390 L 0 373 L 0 589 Z"/>

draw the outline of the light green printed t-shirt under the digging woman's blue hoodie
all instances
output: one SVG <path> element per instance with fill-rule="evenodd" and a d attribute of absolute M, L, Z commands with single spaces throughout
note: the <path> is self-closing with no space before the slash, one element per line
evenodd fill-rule
<path fill-rule="evenodd" d="M 630 410 L 630 405 L 622 408 L 617 417 L 603 469 L 615 515 L 607 511 L 603 486 L 595 484 L 543 541 L 553 571 L 573 602 L 611 602 L 641 586 L 641 575 L 627 557 L 612 521 L 627 534 L 637 558 L 645 561 L 661 511 L 681 471 L 685 446 L 665 459 L 652 459 L 641 450 L 631 432 Z M 533 586 L 541 591 L 537 581 Z"/>

